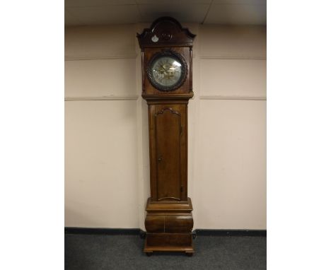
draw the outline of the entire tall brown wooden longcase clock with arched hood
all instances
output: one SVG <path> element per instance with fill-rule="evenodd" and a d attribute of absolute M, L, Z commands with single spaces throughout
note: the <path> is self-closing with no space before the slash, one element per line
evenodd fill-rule
<path fill-rule="evenodd" d="M 149 105 L 151 197 L 144 252 L 192 255 L 192 202 L 187 197 L 187 104 L 192 92 L 195 35 L 163 17 L 138 34 L 142 98 Z"/>

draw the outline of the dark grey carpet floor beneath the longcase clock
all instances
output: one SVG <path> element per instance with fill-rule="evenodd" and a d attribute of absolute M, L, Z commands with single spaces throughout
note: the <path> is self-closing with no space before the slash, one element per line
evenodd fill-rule
<path fill-rule="evenodd" d="M 267 238 L 200 236 L 195 253 L 154 253 L 147 257 L 139 235 L 65 235 L 66 270 L 109 269 L 267 269 Z"/>

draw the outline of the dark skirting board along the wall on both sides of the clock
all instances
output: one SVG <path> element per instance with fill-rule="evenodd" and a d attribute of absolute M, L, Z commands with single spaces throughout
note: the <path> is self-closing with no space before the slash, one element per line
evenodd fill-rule
<path fill-rule="evenodd" d="M 140 235 L 144 237 L 146 232 L 138 228 L 81 228 L 64 227 L 66 234 L 87 234 L 87 235 Z M 267 230 L 207 230 L 196 229 L 192 231 L 193 238 L 196 235 L 219 235 L 219 236 L 267 236 Z"/>

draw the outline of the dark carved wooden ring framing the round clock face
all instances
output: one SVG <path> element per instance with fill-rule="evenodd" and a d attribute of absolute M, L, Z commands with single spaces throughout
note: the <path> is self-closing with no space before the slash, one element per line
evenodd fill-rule
<path fill-rule="evenodd" d="M 179 80 L 177 81 L 177 83 L 173 84 L 173 86 L 163 86 L 160 83 L 158 83 L 153 77 L 152 66 L 154 62 L 158 61 L 158 59 L 160 59 L 161 57 L 173 57 L 176 59 L 176 61 L 178 61 L 181 64 L 182 74 L 180 74 Z M 162 52 L 156 52 L 156 54 L 153 54 L 153 56 L 149 60 L 149 64 L 147 65 L 146 74 L 147 74 L 147 78 L 149 78 L 149 82 L 156 89 L 163 92 L 173 91 L 180 88 L 180 86 L 182 86 L 182 84 L 185 82 L 187 77 L 187 64 L 184 57 L 182 57 L 180 53 L 167 49 L 167 50 L 163 50 Z"/>

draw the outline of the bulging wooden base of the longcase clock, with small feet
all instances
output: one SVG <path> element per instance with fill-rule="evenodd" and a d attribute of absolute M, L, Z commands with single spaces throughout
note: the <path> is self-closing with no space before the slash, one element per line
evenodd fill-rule
<path fill-rule="evenodd" d="M 144 252 L 186 252 L 192 255 L 192 202 L 151 201 L 146 205 Z"/>

